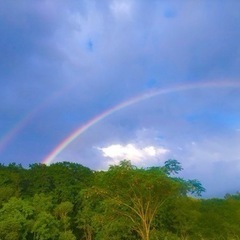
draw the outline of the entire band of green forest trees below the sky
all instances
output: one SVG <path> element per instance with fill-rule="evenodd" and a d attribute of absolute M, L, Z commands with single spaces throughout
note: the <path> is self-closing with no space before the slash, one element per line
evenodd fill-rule
<path fill-rule="evenodd" d="M 174 159 L 106 171 L 81 164 L 0 165 L 1 240 L 240 239 L 240 194 L 201 198 Z"/>

